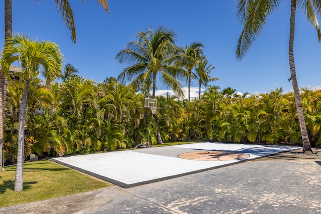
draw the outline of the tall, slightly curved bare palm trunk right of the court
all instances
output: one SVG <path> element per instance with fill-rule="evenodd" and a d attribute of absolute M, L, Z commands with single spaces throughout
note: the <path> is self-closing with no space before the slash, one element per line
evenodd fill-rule
<path fill-rule="evenodd" d="M 313 154 L 310 141 L 308 138 L 306 126 L 305 126 L 302 103 L 301 103 L 299 88 L 296 81 L 294 54 L 293 54 L 295 12 L 296 12 L 296 0 L 291 0 L 290 40 L 289 40 L 289 65 L 290 65 L 290 72 L 291 72 L 291 80 L 292 80 L 297 116 L 299 119 L 299 124 L 301 129 L 302 145 L 303 145 L 302 152 L 304 154 Z"/>

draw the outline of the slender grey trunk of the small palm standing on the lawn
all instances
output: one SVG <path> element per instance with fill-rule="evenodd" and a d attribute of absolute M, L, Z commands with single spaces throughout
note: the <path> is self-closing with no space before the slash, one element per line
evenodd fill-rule
<path fill-rule="evenodd" d="M 17 153 L 17 169 L 15 179 L 15 191 L 23 190 L 23 171 L 24 171 L 24 146 L 25 146 L 25 118 L 27 110 L 27 98 L 30 79 L 26 81 L 24 94 L 22 95 L 20 112 L 19 112 L 19 129 L 18 129 L 18 153 Z"/>

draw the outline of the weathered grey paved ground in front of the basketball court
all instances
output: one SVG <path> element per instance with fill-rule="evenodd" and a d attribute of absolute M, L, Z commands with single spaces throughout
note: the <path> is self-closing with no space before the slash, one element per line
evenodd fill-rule
<path fill-rule="evenodd" d="M 130 188 L 115 185 L 0 208 L 0 213 L 320 213 L 320 180 L 320 156 L 284 152 Z"/>

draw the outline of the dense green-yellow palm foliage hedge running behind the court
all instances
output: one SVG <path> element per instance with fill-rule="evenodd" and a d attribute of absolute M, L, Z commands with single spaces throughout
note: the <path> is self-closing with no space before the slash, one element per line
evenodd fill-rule
<path fill-rule="evenodd" d="M 23 81 L 8 85 L 5 162 L 15 162 L 19 103 Z M 231 94 L 231 93 L 232 94 Z M 158 96 L 158 125 L 164 142 L 211 140 L 301 145 L 292 92 L 276 88 L 266 94 L 243 96 L 235 90 L 209 86 L 200 99 Z M 95 83 L 76 74 L 45 86 L 30 82 L 25 127 L 25 151 L 40 156 L 115 150 L 146 142 L 143 95 L 131 86 L 107 78 Z M 321 145 L 321 91 L 301 90 L 312 146 Z M 156 143 L 156 126 L 148 113 L 149 142 Z"/>

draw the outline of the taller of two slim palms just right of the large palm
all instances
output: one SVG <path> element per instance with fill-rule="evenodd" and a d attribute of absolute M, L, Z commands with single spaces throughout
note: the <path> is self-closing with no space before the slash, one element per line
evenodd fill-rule
<path fill-rule="evenodd" d="M 196 67 L 197 63 L 203 59 L 203 48 L 202 43 L 193 42 L 190 46 L 185 46 L 181 48 L 179 53 L 183 56 L 183 60 L 178 61 L 179 66 L 185 67 L 187 69 L 186 77 L 189 87 L 189 101 L 191 100 L 191 82 L 192 78 L 194 79 L 196 75 L 192 70 Z"/>

